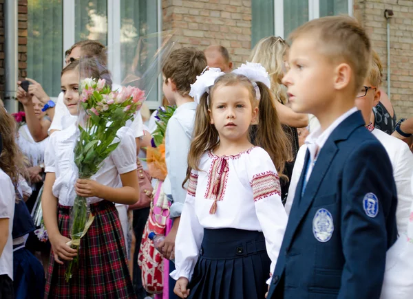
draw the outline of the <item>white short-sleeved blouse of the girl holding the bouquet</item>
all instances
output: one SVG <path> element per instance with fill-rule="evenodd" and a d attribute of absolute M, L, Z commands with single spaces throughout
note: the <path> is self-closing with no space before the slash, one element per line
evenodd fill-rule
<path fill-rule="evenodd" d="M 136 142 L 134 133 L 127 127 L 118 131 L 120 144 L 107 157 L 96 175 L 91 179 L 112 188 L 122 187 L 120 176 L 136 169 Z M 78 169 L 74 164 L 74 146 L 78 138 L 76 124 L 63 131 L 56 131 L 50 136 L 50 144 L 45 152 L 45 172 L 55 173 L 52 192 L 63 206 L 73 206 L 76 192 L 74 184 L 78 178 Z M 115 138 L 114 142 L 118 142 Z M 89 197 L 87 203 L 102 201 L 98 197 Z"/>

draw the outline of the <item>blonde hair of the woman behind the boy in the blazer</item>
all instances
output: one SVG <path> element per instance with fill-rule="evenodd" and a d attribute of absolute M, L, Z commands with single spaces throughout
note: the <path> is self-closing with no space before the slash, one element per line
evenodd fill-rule
<path fill-rule="evenodd" d="M 251 53 L 251 63 L 261 63 L 261 65 L 268 71 L 271 80 L 271 91 L 273 91 L 275 98 L 286 104 L 287 92 L 282 85 L 282 77 L 284 76 L 284 56 L 288 50 L 288 45 L 281 37 L 268 36 L 262 38 L 257 45 L 255 45 Z"/>

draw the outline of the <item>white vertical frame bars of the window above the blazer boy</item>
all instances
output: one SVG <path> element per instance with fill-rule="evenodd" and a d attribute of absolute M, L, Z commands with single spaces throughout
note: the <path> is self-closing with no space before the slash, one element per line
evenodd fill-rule
<path fill-rule="evenodd" d="M 275 36 L 284 36 L 284 1 L 285 0 L 274 0 L 274 32 Z M 354 0 L 348 1 L 348 15 L 353 16 L 353 2 Z M 318 19 L 320 17 L 320 1 L 319 0 L 308 0 L 308 21 L 313 19 Z"/>

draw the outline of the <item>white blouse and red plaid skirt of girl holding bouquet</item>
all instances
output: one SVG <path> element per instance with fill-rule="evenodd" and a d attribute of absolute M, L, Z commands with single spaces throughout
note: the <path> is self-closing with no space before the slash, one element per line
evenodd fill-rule
<path fill-rule="evenodd" d="M 113 188 L 122 187 L 120 174 L 136 170 L 136 142 L 127 128 L 120 129 L 118 147 L 107 157 L 91 179 Z M 74 146 L 78 138 L 76 124 L 50 136 L 45 155 L 45 171 L 55 173 L 53 195 L 59 199 L 58 225 L 63 236 L 70 238 L 70 211 L 76 192 L 78 170 L 74 164 Z M 118 142 L 117 138 L 114 142 Z M 98 197 L 87 198 L 94 221 L 81 239 L 78 268 L 65 281 L 66 265 L 54 261 L 46 276 L 46 298 L 136 298 L 129 276 L 125 239 L 114 203 Z"/>

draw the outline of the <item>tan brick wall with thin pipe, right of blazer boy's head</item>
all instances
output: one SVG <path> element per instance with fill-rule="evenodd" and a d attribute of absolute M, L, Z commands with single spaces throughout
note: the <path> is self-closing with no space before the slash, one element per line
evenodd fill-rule
<path fill-rule="evenodd" d="M 354 0 L 354 16 L 363 23 L 379 53 L 387 78 L 387 23 L 390 20 L 390 91 L 397 118 L 413 116 L 413 0 Z M 383 88 L 387 90 L 384 80 Z"/>

